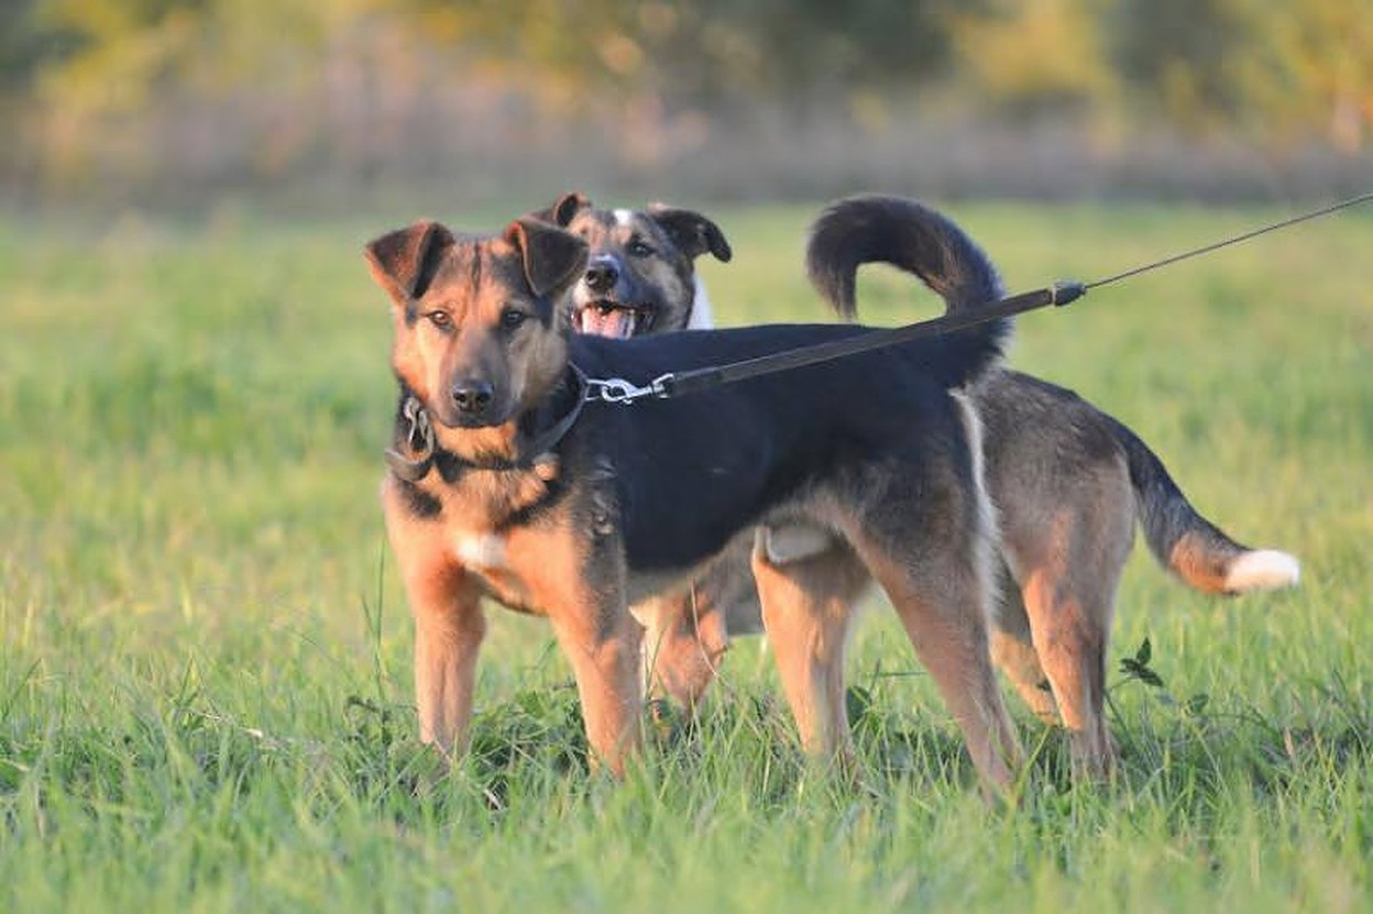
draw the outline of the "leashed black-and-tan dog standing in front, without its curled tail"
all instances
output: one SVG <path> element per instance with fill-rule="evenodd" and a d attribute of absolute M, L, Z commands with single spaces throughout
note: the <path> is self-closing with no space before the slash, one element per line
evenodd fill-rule
<path fill-rule="evenodd" d="M 949 392 L 1000 357 L 1004 323 L 622 406 L 588 399 L 586 379 L 643 384 L 862 331 L 573 333 L 559 303 L 586 244 L 530 218 L 496 236 L 420 222 L 367 254 L 393 302 L 401 391 L 382 501 L 415 613 L 424 741 L 465 744 L 489 596 L 549 619 L 592 751 L 621 771 L 641 711 L 629 605 L 686 582 L 750 526 L 795 520 L 839 543 L 795 567 L 755 550 L 806 747 L 846 748 L 839 597 L 858 570 L 890 596 L 984 782 L 1011 782 L 1019 749 L 987 642 L 990 504 L 976 421 Z M 984 269 L 951 225 L 923 257 Z"/>

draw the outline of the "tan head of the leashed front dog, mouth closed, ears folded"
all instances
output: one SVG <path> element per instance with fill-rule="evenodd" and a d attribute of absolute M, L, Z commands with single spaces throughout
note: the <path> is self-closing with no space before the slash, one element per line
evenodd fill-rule
<path fill-rule="evenodd" d="M 503 425 L 557 383 L 559 303 L 586 268 L 579 237 L 533 218 L 497 236 L 416 222 L 368 244 L 367 259 L 391 296 L 391 366 L 441 425 Z"/>

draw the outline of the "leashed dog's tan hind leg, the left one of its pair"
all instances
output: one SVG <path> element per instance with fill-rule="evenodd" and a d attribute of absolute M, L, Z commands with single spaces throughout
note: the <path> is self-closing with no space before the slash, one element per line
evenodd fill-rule
<path fill-rule="evenodd" d="M 817 758 L 849 758 L 844 648 L 853 601 L 866 572 L 839 543 L 818 556 L 774 564 L 762 528 L 754 541 L 752 570 L 763 629 L 802 747 Z"/>

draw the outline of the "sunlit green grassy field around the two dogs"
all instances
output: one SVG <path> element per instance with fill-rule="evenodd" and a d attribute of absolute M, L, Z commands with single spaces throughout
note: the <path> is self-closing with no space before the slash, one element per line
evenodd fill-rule
<path fill-rule="evenodd" d="M 1013 290 L 1281 215 L 946 209 Z M 722 323 L 824 320 L 799 270 L 813 211 L 714 213 Z M 1012 700 L 1037 751 L 1013 811 L 979 799 L 883 611 L 850 670 L 861 789 L 802 762 L 754 641 L 623 785 L 588 775 L 549 630 L 501 611 L 474 752 L 435 777 L 376 502 L 394 394 L 360 254 L 413 215 L 0 220 L 0 910 L 1373 909 L 1373 214 L 1022 320 L 1019 366 L 1133 425 L 1304 578 L 1208 600 L 1141 546 L 1112 668 L 1148 638 L 1164 688 L 1112 678 L 1122 777 L 1072 788 Z M 894 274 L 862 302 L 934 312 Z"/>

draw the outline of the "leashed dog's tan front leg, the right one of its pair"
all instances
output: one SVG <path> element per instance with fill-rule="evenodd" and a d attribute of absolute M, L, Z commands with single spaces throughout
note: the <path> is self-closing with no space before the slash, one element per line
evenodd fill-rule
<path fill-rule="evenodd" d="M 577 677 L 592 764 L 621 777 L 640 742 L 643 629 L 619 593 L 610 598 L 586 593 L 551 613 L 551 622 Z"/>

